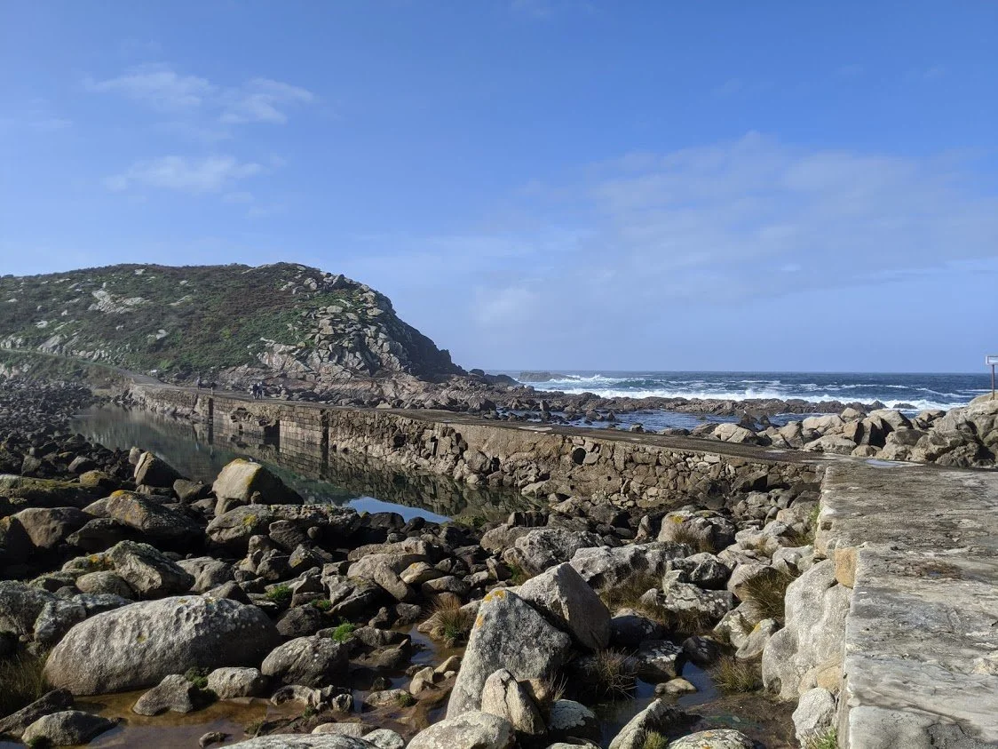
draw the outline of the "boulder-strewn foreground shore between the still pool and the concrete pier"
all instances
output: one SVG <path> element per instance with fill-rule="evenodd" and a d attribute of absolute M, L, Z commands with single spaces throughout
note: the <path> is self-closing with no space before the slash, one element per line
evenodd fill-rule
<path fill-rule="evenodd" d="M 3 426 L 0 663 L 48 653 L 51 691 L 6 705 L 20 709 L 0 733 L 85 743 L 115 722 L 75 703 L 141 689 L 114 717 L 281 703 L 244 746 L 561 749 L 600 745 L 601 706 L 648 683 L 613 749 L 789 745 L 775 703 L 760 712 L 782 724 L 743 732 L 681 707 L 696 689 L 681 672 L 698 664 L 765 704 L 753 690 L 783 591 L 817 561 L 813 485 L 714 509 L 552 494 L 480 527 L 404 522 L 303 504 L 248 461 L 191 481 L 152 453 L 60 433 L 57 416 Z M 420 638 L 438 662 L 416 657 Z"/>

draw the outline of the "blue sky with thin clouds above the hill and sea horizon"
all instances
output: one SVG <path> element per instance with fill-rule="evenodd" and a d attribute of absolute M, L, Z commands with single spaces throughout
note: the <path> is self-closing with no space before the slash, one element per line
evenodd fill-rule
<path fill-rule="evenodd" d="M 979 371 L 996 38 L 984 0 L 6 0 L 0 273 L 314 265 L 465 367 Z"/>

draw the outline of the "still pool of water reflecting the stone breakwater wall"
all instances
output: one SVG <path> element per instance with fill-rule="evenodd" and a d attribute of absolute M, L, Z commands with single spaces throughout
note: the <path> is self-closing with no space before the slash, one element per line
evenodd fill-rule
<path fill-rule="evenodd" d="M 501 517 L 530 500 L 509 491 L 474 489 L 446 476 L 403 472 L 359 454 L 324 455 L 320 441 L 268 438 L 263 426 L 230 418 L 194 423 L 148 411 L 107 407 L 83 414 L 75 428 L 109 447 L 138 445 L 160 454 L 186 475 L 211 481 L 226 463 L 250 457 L 272 467 L 309 501 L 343 504 L 373 497 L 437 514 Z"/>

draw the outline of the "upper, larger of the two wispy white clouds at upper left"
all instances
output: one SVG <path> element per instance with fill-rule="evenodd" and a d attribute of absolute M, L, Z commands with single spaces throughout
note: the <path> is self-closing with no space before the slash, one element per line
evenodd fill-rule
<path fill-rule="evenodd" d="M 214 120 L 223 125 L 282 125 L 287 122 L 287 109 L 316 100 L 307 89 L 281 81 L 253 78 L 238 86 L 221 86 L 207 78 L 178 73 L 163 63 L 140 65 L 102 81 L 88 78 L 84 88 L 98 94 L 118 94 L 175 117 Z"/>

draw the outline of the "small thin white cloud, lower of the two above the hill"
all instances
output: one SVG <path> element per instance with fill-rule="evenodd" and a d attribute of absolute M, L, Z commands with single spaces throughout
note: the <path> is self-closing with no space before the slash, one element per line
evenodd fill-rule
<path fill-rule="evenodd" d="M 139 162 L 125 172 L 108 177 L 104 184 L 109 190 L 121 192 L 132 187 L 177 190 L 192 194 L 217 193 L 238 180 L 258 175 L 259 164 L 241 163 L 232 156 L 212 156 L 188 159 L 164 156 Z"/>

